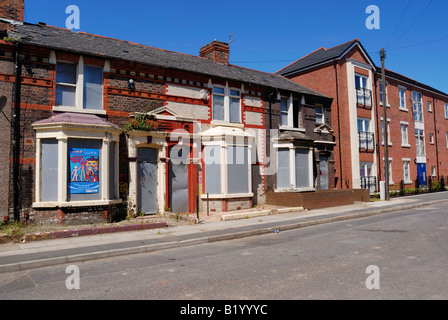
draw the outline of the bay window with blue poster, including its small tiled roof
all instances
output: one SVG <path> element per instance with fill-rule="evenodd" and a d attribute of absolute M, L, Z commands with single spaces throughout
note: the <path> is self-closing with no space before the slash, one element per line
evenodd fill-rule
<path fill-rule="evenodd" d="M 34 207 L 121 202 L 117 179 L 121 130 L 94 115 L 83 116 L 77 118 L 76 114 L 64 113 L 33 123 L 36 130 Z"/>

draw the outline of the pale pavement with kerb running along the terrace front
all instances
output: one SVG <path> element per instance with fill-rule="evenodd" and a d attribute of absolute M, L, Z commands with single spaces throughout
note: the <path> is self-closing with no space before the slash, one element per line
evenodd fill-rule
<path fill-rule="evenodd" d="M 310 211 L 297 207 L 255 208 L 200 216 L 199 223 L 169 228 L 5 243 L 0 244 L 0 273 L 282 232 L 443 202 L 448 204 L 448 191 Z"/>

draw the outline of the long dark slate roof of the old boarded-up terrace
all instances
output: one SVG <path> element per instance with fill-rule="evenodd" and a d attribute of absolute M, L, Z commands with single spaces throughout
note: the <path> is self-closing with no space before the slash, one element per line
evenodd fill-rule
<path fill-rule="evenodd" d="M 326 97 L 280 75 L 247 69 L 236 65 L 215 63 L 199 56 L 158 49 L 124 40 L 117 40 L 68 29 L 24 23 L 15 26 L 10 36 L 21 43 L 122 59 L 168 69 L 190 71 L 227 80 L 252 83 L 281 90 Z M 327 97 L 328 98 L 328 97 Z"/>

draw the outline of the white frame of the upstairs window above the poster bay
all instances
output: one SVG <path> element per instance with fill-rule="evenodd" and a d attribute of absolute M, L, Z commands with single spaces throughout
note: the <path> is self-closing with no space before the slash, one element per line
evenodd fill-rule
<path fill-rule="evenodd" d="M 58 60 L 54 61 L 54 64 L 56 64 L 56 69 L 58 63 L 65 63 L 65 64 L 72 64 L 76 65 L 76 84 L 69 84 L 69 83 L 59 83 L 56 82 L 56 86 L 70 86 L 75 87 L 75 105 L 74 106 L 65 106 L 65 105 L 58 105 L 53 106 L 53 111 L 57 112 L 77 112 L 77 113 L 90 113 L 90 114 L 101 114 L 105 115 L 106 110 L 104 110 L 104 94 L 101 94 L 101 108 L 100 109 L 86 109 L 84 108 L 84 66 L 93 66 L 97 68 L 102 69 L 102 75 L 103 75 L 103 88 L 104 88 L 104 72 L 107 72 L 109 69 L 109 62 L 106 61 L 105 65 L 103 67 L 98 65 L 86 65 L 84 64 L 84 57 L 79 56 L 78 63 L 73 63 L 71 61 L 64 61 L 64 60 Z M 57 72 L 57 71 L 56 71 Z"/>

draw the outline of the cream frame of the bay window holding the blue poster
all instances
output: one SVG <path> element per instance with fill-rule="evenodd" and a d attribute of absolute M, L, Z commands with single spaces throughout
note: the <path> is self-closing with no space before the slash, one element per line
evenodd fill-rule
<path fill-rule="evenodd" d="M 121 130 L 114 128 L 95 127 L 92 125 L 73 125 L 64 124 L 38 124 L 33 125 L 36 130 L 36 175 L 35 175 L 35 202 L 34 208 L 54 208 L 54 207 L 81 207 L 81 206 L 101 206 L 121 203 L 119 198 L 119 137 Z M 57 201 L 42 201 L 41 168 L 42 168 L 42 140 L 56 139 L 58 141 L 58 195 Z M 70 201 L 68 195 L 69 185 L 69 139 L 85 139 L 101 141 L 100 149 L 100 199 Z M 115 198 L 110 199 L 111 190 L 109 189 L 110 168 L 110 142 L 115 142 Z"/>

